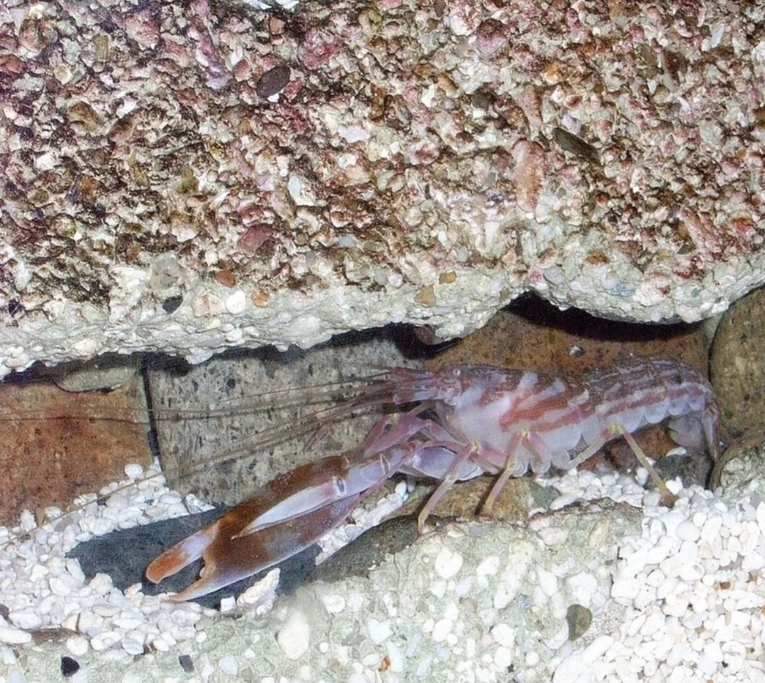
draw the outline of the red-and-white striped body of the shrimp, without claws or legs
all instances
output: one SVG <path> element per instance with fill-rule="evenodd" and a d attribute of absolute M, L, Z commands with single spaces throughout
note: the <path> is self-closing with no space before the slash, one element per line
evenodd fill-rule
<path fill-rule="evenodd" d="M 482 444 L 493 467 L 512 459 L 513 476 L 551 465 L 568 469 L 594 454 L 593 445 L 598 450 L 618 438 L 617 426 L 633 433 L 668 418 L 675 443 L 719 456 L 711 385 L 675 359 L 628 359 L 579 380 L 483 366 L 445 366 L 437 374 L 449 378 L 445 385 L 451 377 L 463 385 L 436 402 L 442 423 L 457 440 Z M 528 437 L 510 452 L 519 434 Z M 575 458 L 584 453 L 584 460 Z"/>

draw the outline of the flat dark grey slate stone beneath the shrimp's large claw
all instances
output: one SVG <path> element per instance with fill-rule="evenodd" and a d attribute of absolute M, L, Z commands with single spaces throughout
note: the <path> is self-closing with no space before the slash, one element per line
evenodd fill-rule
<path fill-rule="evenodd" d="M 131 529 L 118 529 L 103 536 L 91 538 L 80 543 L 68 554 L 70 558 L 80 561 L 83 574 L 92 579 L 96 574 L 109 574 L 112 583 L 119 590 L 125 590 L 133 584 L 141 583 L 145 595 L 160 593 L 177 593 L 199 577 L 202 561 L 197 560 L 185 567 L 174 576 L 166 578 L 161 584 L 152 584 L 144 575 L 148 564 L 161 552 L 171 548 L 177 542 L 191 535 L 204 526 L 222 517 L 229 508 L 220 507 L 195 515 L 164 519 L 161 522 L 151 522 Z M 315 558 L 319 548 L 312 545 L 304 551 L 287 558 L 278 568 L 279 583 L 276 589 L 278 595 L 288 594 L 303 584 L 305 578 L 315 567 Z M 219 607 L 224 597 L 239 596 L 256 581 L 259 581 L 272 568 L 253 574 L 252 577 L 237 581 L 214 593 L 197 598 L 194 602 L 202 607 Z"/>

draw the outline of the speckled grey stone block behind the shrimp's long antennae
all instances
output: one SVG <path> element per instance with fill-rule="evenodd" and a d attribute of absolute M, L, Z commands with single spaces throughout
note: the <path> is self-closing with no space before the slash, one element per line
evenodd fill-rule
<path fill-rule="evenodd" d="M 307 351 L 233 353 L 187 372 L 161 364 L 150 369 L 158 447 L 171 486 L 235 504 L 279 473 L 360 444 L 379 407 L 337 420 L 309 447 L 319 426 L 314 416 L 347 395 L 337 382 L 419 366 L 396 334 L 350 335 Z"/>

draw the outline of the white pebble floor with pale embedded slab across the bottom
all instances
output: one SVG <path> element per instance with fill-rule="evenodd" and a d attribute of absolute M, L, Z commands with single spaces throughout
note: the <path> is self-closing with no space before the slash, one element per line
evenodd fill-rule
<path fill-rule="evenodd" d="M 675 482 L 669 510 L 631 476 L 545 482 L 560 496 L 523 528 L 449 525 L 369 580 L 320 584 L 275 607 L 269 574 L 224 601 L 223 614 L 139 586 L 123 593 L 103 574 L 86 581 L 64 557 L 91 535 L 186 512 L 161 479 L 70 516 L 49 510 L 39 526 L 24 513 L 20 529 L 0 529 L 0 681 L 56 680 L 62 656 L 80 665 L 73 681 L 362 683 L 449 672 L 519 683 L 765 681 L 757 493 L 724 501 Z M 406 495 L 401 483 L 326 547 L 355 538 Z M 583 634 L 572 606 L 590 617 Z M 44 629 L 57 629 L 54 642 L 33 636 Z"/>

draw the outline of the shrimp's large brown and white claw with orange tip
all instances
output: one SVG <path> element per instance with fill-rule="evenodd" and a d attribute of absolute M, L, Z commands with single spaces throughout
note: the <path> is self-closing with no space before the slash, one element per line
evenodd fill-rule
<path fill-rule="evenodd" d="M 171 597 L 193 600 L 296 555 L 340 524 L 361 499 L 423 449 L 418 441 L 386 448 L 389 437 L 412 437 L 415 415 L 393 425 L 383 418 L 368 447 L 306 463 L 263 486 L 223 517 L 154 559 L 146 577 L 158 584 L 203 558 L 199 581 Z"/>

